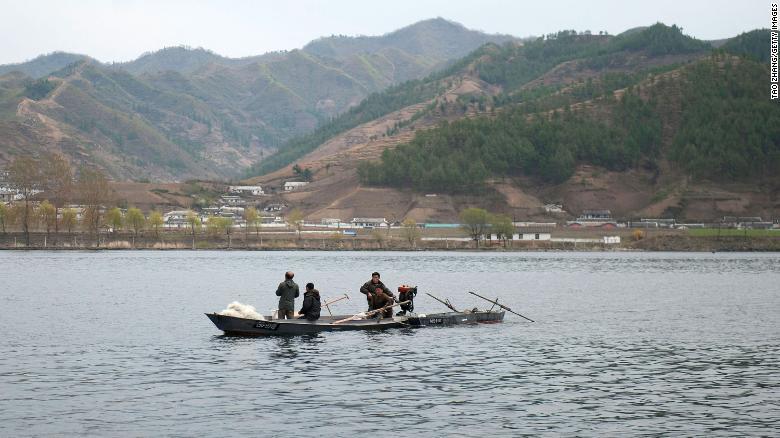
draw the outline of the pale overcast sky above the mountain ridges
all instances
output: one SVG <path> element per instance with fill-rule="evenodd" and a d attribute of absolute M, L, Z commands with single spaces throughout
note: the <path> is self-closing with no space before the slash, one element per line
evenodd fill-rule
<path fill-rule="evenodd" d="M 699 39 L 769 27 L 766 1 L 511 0 L 0 0 L 0 64 L 53 51 L 103 62 L 185 45 L 242 57 L 330 35 L 382 35 L 442 17 L 518 37 L 562 29 L 620 33 L 656 22 Z"/>

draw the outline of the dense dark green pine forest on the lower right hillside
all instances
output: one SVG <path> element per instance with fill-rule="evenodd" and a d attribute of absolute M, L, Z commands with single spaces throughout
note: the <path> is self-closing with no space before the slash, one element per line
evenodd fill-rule
<path fill-rule="evenodd" d="M 514 106 L 417 134 L 361 167 L 365 182 L 420 191 L 474 192 L 489 178 L 529 175 L 563 183 L 578 164 L 624 171 L 671 159 L 694 178 L 754 180 L 780 173 L 780 109 L 768 99 L 765 65 L 726 55 L 659 75 L 597 110 L 552 114 Z M 679 114 L 667 108 L 681 105 Z M 663 126 L 678 125 L 664 145 Z M 662 153 L 663 152 L 663 153 Z"/>

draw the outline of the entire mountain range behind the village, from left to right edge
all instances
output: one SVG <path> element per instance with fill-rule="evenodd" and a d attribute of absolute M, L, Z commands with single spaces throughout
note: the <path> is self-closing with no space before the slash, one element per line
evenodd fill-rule
<path fill-rule="evenodd" d="M 559 219 L 546 202 L 568 217 L 778 217 L 768 45 L 766 29 L 521 41 L 434 19 L 240 59 L 55 53 L 0 66 L 0 166 L 58 150 L 117 180 L 243 175 L 271 193 L 308 169 L 269 202 L 310 219 Z"/>

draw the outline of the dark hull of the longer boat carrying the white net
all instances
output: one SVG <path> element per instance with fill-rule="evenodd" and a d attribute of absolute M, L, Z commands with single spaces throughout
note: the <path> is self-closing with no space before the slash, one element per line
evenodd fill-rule
<path fill-rule="evenodd" d="M 353 315 L 322 316 L 316 321 L 306 319 L 265 320 L 238 318 L 235 316 L 207 313 L 206 316 L 218 329 L 231 336 L 295 336 L 320 332 L 347 330 L 383 330 L 388 328 L 409 327 L 409 317 L 396 316 L 383 319 L 356 319 L 344 321 Z M 338 323 L 338 321 L 344 321 Z"/>

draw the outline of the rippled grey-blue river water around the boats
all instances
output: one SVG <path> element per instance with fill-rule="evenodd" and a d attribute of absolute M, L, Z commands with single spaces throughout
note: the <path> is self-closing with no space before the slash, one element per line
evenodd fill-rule
<path fill-rule="evenodd" d="M 5 251 L 0 266 L 3 436 L 780 433 L 778 254 Z M 339 313 L 364 309 L 378 270 L 536 322 L 254 339 L 203 315 L 268 313 L 286 270 L 348 293 Z"/>

